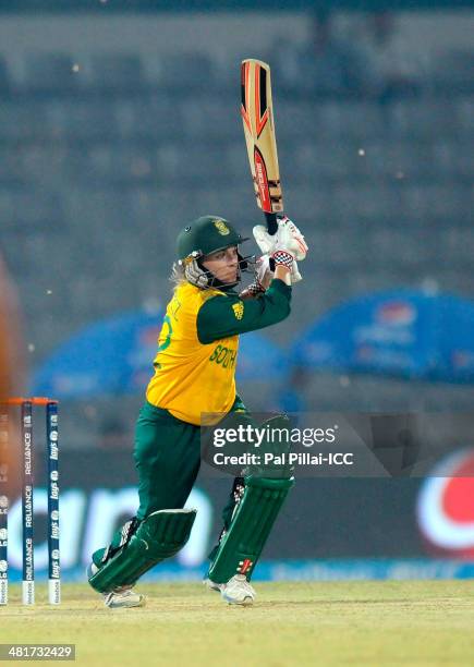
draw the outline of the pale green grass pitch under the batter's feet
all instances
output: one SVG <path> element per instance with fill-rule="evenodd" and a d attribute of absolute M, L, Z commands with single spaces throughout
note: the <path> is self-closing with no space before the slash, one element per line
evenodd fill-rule
<path fill-rule="evenodd" d="M 260 583 L 248 608 L 199 583 L 139 589 L 146 607 L 110 610 L 86 584 L 56 608 L 11 586 L 0 642 L 73 643 L 81 665 L 474 665 L 471 581 Z"/>

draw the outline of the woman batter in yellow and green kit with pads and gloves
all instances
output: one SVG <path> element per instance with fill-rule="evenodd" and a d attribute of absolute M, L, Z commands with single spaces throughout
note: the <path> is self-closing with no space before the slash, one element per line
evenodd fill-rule
<path fill-rule="evenodd" d="M 198 218 L 178 237 L 175 288 L 136 424 L 139 508 L 87 568 L 90 585 L 110 608 L 144 605 L 134 584 L 190 536 L 196 510 L 184 505 L 199 471 L 205 415 L 250 419 L 235 390 L 239 336 L 288 317 L 292 278 L 301 278 L 295 259 L 307 251 L 288 218 L 278 220 L 274 237 L 262 226 L 254 235 L 265 255 L 255 282 L 240 294 L 235 288 L 248 260 L 240 245 L 247 239 L 216 216 Z M 253 603 L 250 579 L 292 484 L 290 475 L 235 478 L 205 579 L 228 604 Z"/>

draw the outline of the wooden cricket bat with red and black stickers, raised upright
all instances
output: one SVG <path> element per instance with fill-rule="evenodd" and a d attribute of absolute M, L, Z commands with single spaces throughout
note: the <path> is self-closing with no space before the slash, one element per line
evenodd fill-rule
<path fill-rule="evenodd" d="M 268 232 L 278 229 L 277 214 L 283 210 L 271 101 L 270 68 L 247 58 L 241 69 L 241 113 L 244 124 L 257 205 L 265 214 Z"/>

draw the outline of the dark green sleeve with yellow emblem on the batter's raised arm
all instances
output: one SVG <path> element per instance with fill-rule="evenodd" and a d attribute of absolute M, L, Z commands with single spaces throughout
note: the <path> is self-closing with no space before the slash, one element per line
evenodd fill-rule
<path fill-rule="evenodd" d="M 203 344 L 264 329 L 290 315 L 291 288 L 282 280 L 271 281 L 257 299 L 242 301 L 239 294 L 212 296 L 197 313 L 197 338 Z"/>

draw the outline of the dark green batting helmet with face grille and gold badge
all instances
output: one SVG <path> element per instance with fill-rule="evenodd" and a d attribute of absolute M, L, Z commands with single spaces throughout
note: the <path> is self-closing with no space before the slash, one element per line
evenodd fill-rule
<path fill-rule="evenodd" d="M 202 216 L 187 225 L 178 235 L 178 265 L 184 268 L 186 279 L 196 287 L 230 288 L 241 280 L 241 269 L 247 268 L 248 257 L 239 257 L 238 280 L 232 284 L 223 284 L 211 271 L 203 266 L 206 255 L 227 247 L 239 246 L 244 239 L 230 222 L 218 216 Z"/>

